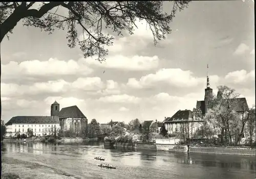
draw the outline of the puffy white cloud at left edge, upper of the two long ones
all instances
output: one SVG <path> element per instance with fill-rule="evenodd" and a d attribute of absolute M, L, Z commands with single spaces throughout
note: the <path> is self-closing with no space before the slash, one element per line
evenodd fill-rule
<path fill-rule="evenodd" d="M 62 75 L 88 75 L 93 72 L 83 61 L 61 61 L 56 58 L 50 58 L 47 61 L 31 60 L 18 62 L 9 62 L 2 64 L 2 74 L 4 79 L 24 78 L 24 76 L 62 76 Z"/>

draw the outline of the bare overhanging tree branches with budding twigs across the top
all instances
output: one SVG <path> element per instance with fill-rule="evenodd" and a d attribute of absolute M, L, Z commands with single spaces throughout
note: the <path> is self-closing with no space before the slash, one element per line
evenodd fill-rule
<path fill-rule="evenodd" d="M 136 19 L 144 19 L 154 36 L 154 43 L 171 33 L 169 23 L 177 10 L 183 10 L 190 1 L 174 1 L 169 14 L 162 11 L 161 1 L 123 1 L 123 2 L 43 2 L 38 10 L 33 9 L 36 2 L 0 3 L 1 42 L 16 24 L 23 20 L 27 27 L 40 28 L 51 34 L 54 30 L 68 29 L 68 46 L 74 48 L 78 43 L 85 58 L 98 56 L 98 61 L 105 60 L 114 38 L 102 32 L 102 27 L 112 29 L 118 35 L 128 31 L 133 34 Z M 68 16 L 59 14 L 65 8 Z M 78 29 L 82 29 L 83 39 L 79 39 Z M 1 59 L 0 59 L 1 62 Z M 0 63 L 1 65 L 1 63 Z M 0 66 L 1 69 L 1 66 Z M 0 71 L 1 75 L 1 71 Z M 1 96 L 0 96 L 1 103 Z M 1 112 L 1 111 L 0 111 Z M 1 116 L 1 113 L 0 113 Z"/>

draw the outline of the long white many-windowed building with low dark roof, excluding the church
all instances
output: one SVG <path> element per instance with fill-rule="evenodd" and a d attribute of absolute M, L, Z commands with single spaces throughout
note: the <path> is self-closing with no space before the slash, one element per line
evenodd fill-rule
<path fill-rule="evenodd" d="M 6 123 L 6 137 L 15 134 L 27 135 L 31 130 L 35 136 L 43 136 L 59 132 L 59 119 L 57 116 L 15 116 Z"/>

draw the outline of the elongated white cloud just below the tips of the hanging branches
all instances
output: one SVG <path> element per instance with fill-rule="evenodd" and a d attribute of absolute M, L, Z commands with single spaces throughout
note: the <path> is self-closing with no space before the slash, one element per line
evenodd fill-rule
<path fill-rule="evenodd" d="M 143 57 L 143 56 L 133 56 L 125 57 L 122 55 L 116 55 L 108 57 L 106 61 L 100 63 L 93 58 L 85 59 L 86 63 L 90 65 L 95 65 L 102 68 L 112 68 L 112 69 L 122 69 L 122 70 L 133 70 L 133 71 L 143 71 L 151 70 L 158 67 L 159 58 L 157 56 L 153 57 Z"/>

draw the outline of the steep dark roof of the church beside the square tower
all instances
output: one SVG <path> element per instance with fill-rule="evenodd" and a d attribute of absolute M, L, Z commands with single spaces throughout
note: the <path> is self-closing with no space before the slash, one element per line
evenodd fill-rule
<path fill-rule="evenodd" d="M 86 118 L 77 106 L 62 108 L 58 114 L 59 118 Z"/>

